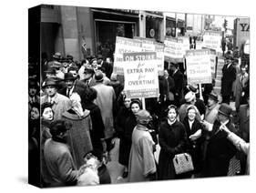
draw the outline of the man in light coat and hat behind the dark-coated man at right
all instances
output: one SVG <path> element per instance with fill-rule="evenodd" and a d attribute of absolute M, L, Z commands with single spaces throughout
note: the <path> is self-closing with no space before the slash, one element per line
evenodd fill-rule
<path fill-rule="evenodd" d="M 211 92 L 208 95 L 208 104 L 206 107 L 206 113 L 204 119 L 209 122 L 210 124 L 213 124 L 218 116 L 219 111 L 219 103 L 218 103 L 218 95 L 214 92 Z"/>

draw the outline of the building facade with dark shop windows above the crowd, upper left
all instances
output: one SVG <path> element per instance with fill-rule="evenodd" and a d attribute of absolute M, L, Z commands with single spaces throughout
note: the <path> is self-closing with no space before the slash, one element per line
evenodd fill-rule
<path fill-rule="evenodd" d="M 165 36 L 182 36 L 185 32 L 184 20 L 162 12 L 66 5 L 38 7 L 40 53 L 48 60 L 56 52 L 72 55 L 74 60 L 97 55 L 112 57 L 116 36 L 148 37 L 163 42 Z M 32 34 L 33 29 L 30 31 Z M 33 56 L 31 52 L 29 55 Z"/>

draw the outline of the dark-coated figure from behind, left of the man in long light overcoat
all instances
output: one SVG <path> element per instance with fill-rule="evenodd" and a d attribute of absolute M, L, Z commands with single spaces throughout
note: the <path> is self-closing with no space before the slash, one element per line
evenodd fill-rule
<path fill-rule="evenodd" d="M 90 130 L 90 137 L 93 149 L 100 149 L 106 151 L 106 143 L 104 141 L 104 124 L 101 117 L 100 109 L 93 103 L 97 97 L 97 90 L 91 87 L 87 87 L 85 92 L 85 109 L 90 111 L 90 117 L 92 122 L 92 129 Z"/>

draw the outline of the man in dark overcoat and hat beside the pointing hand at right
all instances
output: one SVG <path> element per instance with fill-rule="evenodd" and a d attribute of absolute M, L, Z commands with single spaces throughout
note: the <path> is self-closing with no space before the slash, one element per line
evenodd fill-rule
<path fill-rule="evenodd" d="M 204 151 L 203 177 L 224 177 L 228 175 L 230 159 L 236 153 L 236 147 L 227 138 L 227 133 L 222 127 L 228 127 L 235 132 L 235 127 L 230 121 L 232 108 L 225 103 L 220 105 L 218 118 L 213 124 L 202 121 L 207 138 L 206 149 Z"/>

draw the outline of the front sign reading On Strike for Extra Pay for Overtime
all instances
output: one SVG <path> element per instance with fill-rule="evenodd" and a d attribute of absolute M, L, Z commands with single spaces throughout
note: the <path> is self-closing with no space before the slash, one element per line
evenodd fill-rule
<path fill-rule="evenodd" d="M 129 98 L 158 97 L 156 52 L 124 53 L 124 90 Z"/>

